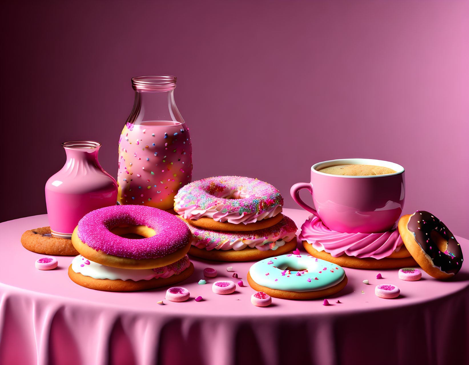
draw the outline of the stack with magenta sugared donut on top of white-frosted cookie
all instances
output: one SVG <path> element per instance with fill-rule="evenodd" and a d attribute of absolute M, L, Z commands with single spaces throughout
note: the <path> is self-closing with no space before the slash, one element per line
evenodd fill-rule
<path fill-rule="evenodd" d="M 194 271 L 191 234 L 173 214 L 144 205 L 114 205 L 86 214 L 72 243 L 80 255 L 68 267 L 77 284 L 97 290 L 159 288 Z"/>

